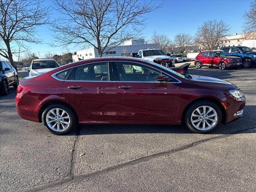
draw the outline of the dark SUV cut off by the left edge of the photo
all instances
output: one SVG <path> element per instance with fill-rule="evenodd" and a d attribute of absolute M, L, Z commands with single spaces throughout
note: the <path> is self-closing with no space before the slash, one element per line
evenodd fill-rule
<path fill-rule="evenodd" d="M 8 87 L 13 86 L 17 89 L 19 85 L 19 78 L 17 71 L 7 61 L 0 61 L 0 93 L 2 95 L 8 94 Z"/>

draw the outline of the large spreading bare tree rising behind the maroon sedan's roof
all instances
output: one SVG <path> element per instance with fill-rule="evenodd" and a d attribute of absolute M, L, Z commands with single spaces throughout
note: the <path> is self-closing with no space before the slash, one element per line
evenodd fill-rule
<path fill-rule="evenodd" d="M 55 0 L 62 14 L 53 24 L 55 46 L 80 44 L 98 50 L 98 56 L 122 42 L 138 38 L 144 14 L 159 6 L 140 0 Z"/>

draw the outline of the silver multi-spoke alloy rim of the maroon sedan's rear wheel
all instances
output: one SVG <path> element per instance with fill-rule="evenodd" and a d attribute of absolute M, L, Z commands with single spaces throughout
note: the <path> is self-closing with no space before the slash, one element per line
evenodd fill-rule
<path fill-rule="evenodd" d="M 63 109 L 53 108 L 46 114 L 46 124 L 56 132 L 63 132 L 70 126 L 70 116 Z"/>

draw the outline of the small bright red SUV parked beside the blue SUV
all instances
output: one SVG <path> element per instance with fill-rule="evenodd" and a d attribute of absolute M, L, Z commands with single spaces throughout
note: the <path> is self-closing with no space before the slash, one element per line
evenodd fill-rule
<path fill-rule="evenodd" d="M 230 56 L 222 50 L 204 51 L 196 56 L 194 64 L 198 69 L 202 66 L 208 66 L 225 70 L 228 67 L 242 66 L 242 59 L 240 57 Z"/>

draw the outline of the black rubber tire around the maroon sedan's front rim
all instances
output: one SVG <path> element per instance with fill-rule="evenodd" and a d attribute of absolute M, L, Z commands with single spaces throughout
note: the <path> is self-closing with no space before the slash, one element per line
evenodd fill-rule
<path fill-rule="evenodd" d="M 212 128 L 209 127 L 209 129 L 207 130 L 200 130 L 200 126 L 199 128 L 196 128 L 193 124 L 192 124 L 192 118 L 197 118 L 197 117 L 192 117 L 192 113 L 197 109 L 197 108 L 200 108 L 201 106 L 209 106 L 211 108 L 213 108 L 217 114 L 217 120 L 216 120 L 216 124 L 214 124 L 214 126 L 212 126 Z M 207 109 L 207 108 L 206 108 Z M 214 114 L 215 114 L 214 112 Z M 206 113 L 207 114 L 207 113 Z M 209 113 L 211 114 L 211 113 Z M 205 114 L 204 114 L 205 115 Z M 198 120 L 199 120 L 200 117 L 198 117 Z M 204 117 L 206 118 L 206 117 Z M 202 119 L 202 118 L 200 118 Z M 194 119 L 195 120 L 195 119 Z M 190 105 L 189 108 L 186 110 L 186 114 L 184 116 L 184 121 L 185 121 L 185 124 L 186 126 L 194 133 L 200 133 L 200 134 L 204 134 L 204 133 L 209 133 L 209 132 L 212 132 L 213 130 L 215 130 L 218 125 L 220 124 L 220 122 L 222 121 L 222 112 L 220 110 L 220 107 L 215 104 L 214 102 L 212 101 L 209 101 L 209 100 L 200 100 L 198 102 L 195 102 L 194 104 Z M 201 122 L 202 121 L 202 122 Z M 198 123 L 204 123 L 205 125 L 206 122 L 203 122 L 204 120 L 200 120 Z M 210 120 L 206 119 L 205 121 L 207 122 L 210 122 Z"/>

